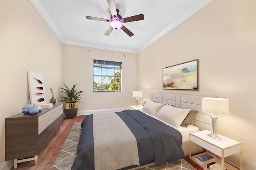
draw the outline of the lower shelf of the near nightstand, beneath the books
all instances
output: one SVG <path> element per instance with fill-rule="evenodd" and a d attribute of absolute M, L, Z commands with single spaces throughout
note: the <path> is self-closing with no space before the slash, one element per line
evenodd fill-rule
<path fill-rule="evenodd" d="M 202 165 L 202 164 L 200 164 L 200 162 L 198 162 L 197 160 L 196 160 L 196 156 L 199 156 L 199 155 L 202 155 L 202 154 L 205 154 L 206 152 L 203 152 L 203 153 L 200 153 L 200 154 L 196 154 L 196 155 L 194 155 L 194 156 L 191 156 L 190 157 L 190 159 L 192 160 L 192 162 L 194 162 L 195 164 L 197 164 L 198 166 L 200 166 L 201 168 L 203 168 L 204 170 L 209 170 L 208 168 L 207 168 L 207 164 L 206 165 Z M 211 153 L 209 153 L 209 152 L 207 152 L 208 154 L 210 154 L 210 155 L 212 155 L 212 156 L 214 156 L 215 157 L 215 160 L 214 160 L 214 162 L 216 162 L 216 163 L 218 163 L 218 164 L 220 164 L 221 165 L 221 159 L 220 158 L 218 158 L 217 156 L 215 156 L 215 155 L 213 155 L 213 154 L 211 154 Z M 210 162 L 209 162 L 210 163 Z M 234 166 L 232 166 L 232 165 L 230 165 L 230 164 L 228 164 L 227 162 L 224 162 L 224 169 L 228 169 L 228 170 L 239 170 L 238 168 L 236 168 L 236 167 L 234 167 Z"/>

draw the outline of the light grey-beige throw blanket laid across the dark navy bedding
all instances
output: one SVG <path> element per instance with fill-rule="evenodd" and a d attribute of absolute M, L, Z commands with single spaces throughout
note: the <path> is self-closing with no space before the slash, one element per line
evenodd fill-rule
<path fill-rule="evenodd" d="M 95 170 L 140 165 L 136 138 L 116 113 L 93 115 L 93 139 Z"/>

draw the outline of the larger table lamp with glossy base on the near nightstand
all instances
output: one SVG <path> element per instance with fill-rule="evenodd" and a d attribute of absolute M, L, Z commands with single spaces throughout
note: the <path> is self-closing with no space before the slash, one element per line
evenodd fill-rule
<path fill-rule="evenodd" d="M 228 114 L 228 99 L 222 98 L 202 98 L 202 111 L 212 113 L 212 133 L 208 134 L 212 139 L 222 140 L 217 134 L 217 119 L 216 114 Z"/>

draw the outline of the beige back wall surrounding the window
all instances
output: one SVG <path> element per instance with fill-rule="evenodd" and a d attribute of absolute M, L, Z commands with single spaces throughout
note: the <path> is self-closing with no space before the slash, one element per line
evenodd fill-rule
<path fill-rule="evenodd" d="M 93 92 L 93 59 L 122 62 L 122 92 Z M 83 91 L 78 111 L 128 108 L 136 104 L 132 91 L 138 90 L 137 63 L 136 54 L 63 45 L 63 83 Z"/>

